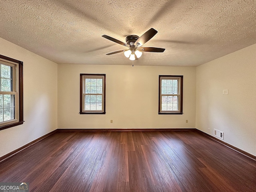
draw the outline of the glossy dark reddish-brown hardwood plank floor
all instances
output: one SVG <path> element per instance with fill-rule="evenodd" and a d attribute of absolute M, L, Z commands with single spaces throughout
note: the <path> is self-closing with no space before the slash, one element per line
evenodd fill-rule
<path fill-rule="evenodd" d="M 255 192 L 256 161 L 196 131 L 56 132 L 0 162 L 30 192 Z"/>

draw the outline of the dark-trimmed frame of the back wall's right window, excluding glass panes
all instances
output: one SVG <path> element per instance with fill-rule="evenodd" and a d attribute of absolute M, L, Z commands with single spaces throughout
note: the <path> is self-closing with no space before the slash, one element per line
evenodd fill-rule
<path fill-rule="evenodd" d="M 177 94 L 162 94 L 162 80 L 178 80 Z M 162 110 L 162 96 L 177 96 L 178 110 Z M 158 114 L 183 114 L 183 76 L 159 75 Z"/>

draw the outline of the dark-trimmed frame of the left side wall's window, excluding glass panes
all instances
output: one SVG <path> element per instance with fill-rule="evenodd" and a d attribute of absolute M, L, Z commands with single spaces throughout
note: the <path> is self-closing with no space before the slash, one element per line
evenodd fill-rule
<path fill-rule="evenodd" d="M 14 119 L 0 122 L 0 130 L 23 124 L 23 62 L 0 55 L 0 64 L 12 67 L 12 91 L 0 90 L 0 95 L 14 95 Z M 0 82 L 1 86 L 1 82 Z M 3 106 L 4 109 L 4 106 Z M 4 119 L 3 119 L 4 120 Z"/>

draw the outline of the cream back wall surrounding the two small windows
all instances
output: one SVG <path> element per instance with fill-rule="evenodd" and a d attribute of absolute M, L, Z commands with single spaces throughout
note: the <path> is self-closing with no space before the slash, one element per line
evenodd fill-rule
<path fill-rule="evenodd" d="M 106 74 L 105 115 L 79 114 L 80 73 Z M 158 115 L 159 74 L 184 75 L 183 115 Z M 195 86 L 195 67 L 59 64 L 58 128 L 194 128 Z"/>

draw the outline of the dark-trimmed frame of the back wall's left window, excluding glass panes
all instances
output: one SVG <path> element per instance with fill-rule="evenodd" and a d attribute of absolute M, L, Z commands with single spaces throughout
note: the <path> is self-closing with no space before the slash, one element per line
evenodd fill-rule
<path fill-rule="evenodd" d="M 102 79 L 102 94 L 88 94 L 85 92 L 86 79 Z M 86 95 L 101 95 L 102 110 L 85 110 Z M 80 114 L 106 114 L 106 74 L 80 74 Z"/>

